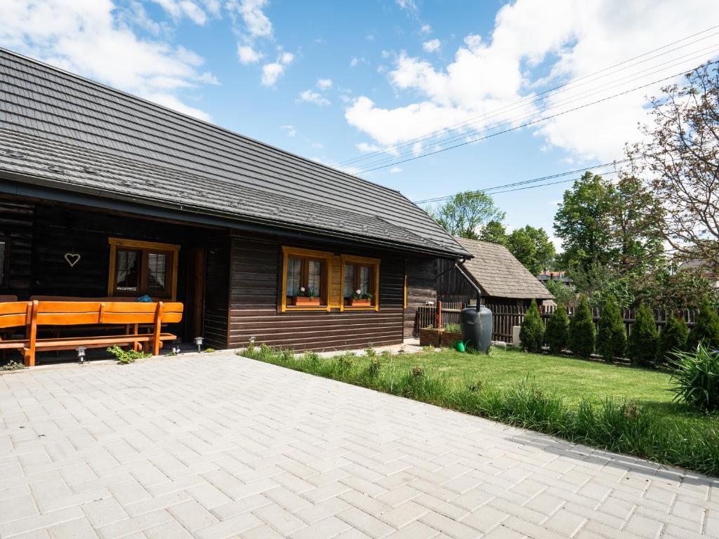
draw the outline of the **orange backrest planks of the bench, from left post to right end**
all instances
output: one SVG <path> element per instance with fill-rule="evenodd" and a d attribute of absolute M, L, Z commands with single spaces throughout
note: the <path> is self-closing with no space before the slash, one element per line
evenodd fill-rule
<path fill-rule="evenodd" d="M 99 301 L 39 301 L 38 326 L 155 323 L 159 303 Z M 160 323 L 182 320 L 182 303 L 162 304 Z"/>

